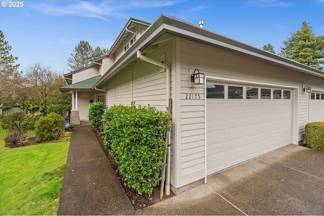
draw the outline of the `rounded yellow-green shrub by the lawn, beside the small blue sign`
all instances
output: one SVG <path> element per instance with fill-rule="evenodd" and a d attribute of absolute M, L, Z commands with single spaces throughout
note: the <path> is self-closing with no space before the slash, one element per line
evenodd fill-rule
<path fill-rule="evenodd" d="M 35 135 L 41 141 L 59 140 L 64 133 L 64 119 L 51 112 L 35 123 Z"/>

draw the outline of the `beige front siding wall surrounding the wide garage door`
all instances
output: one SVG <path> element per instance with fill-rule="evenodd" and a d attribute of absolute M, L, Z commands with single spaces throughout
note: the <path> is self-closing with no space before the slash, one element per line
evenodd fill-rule
<path fill-rule="evenodd" d="M 181 39 L 181 186 L 204 178 L 204 87 L 193 86 L 189 70 L 199 69 L 208 76 L 245 81 L 287 85 L 299 88 L 299 139 L 304 139 L 304 126 L 308 122 L 308 94 L 303 95 L 301 83 L 323 89 L 324 78 L 271 65 L 227 50 Z M 305 81 L 307 80 L 307 81 Z M 185 100 L 186 94 L 200 94 L 199 100 Z M 179 159 L 179 158 L 178 158 Z M 188 180 L 190 178 L 190 180 Z"/>

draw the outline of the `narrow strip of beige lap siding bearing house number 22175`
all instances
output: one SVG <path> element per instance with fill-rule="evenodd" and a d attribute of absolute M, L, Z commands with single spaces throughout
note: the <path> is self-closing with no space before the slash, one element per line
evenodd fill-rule
<path fill-rule="evenodd" d="M 194 85 L 189 68 L 182 67 L 189 58 L 185 46 L 181 44 L 180 55 L 180 186 L 205 178 L 205 89 L 204 85 Z M 199 61 L 199 55 L 194 62 Z"/>

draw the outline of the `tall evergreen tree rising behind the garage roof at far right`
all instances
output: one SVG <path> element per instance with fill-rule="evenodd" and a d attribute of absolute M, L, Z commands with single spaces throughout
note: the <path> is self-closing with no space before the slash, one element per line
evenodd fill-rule
<path fill-rule="evenodd" d="M 301 30 L 293 33 L 284 41 L 280 56 L 296 62 L 323 70 L 324 64 L 324 36 L 315 36 L 312 27 L 304 21 Z"/>

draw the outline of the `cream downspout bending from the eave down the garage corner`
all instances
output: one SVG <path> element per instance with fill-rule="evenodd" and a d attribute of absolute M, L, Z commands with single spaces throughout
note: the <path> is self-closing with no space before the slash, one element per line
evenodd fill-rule
<path fill-rule="evenodd" d="M 142 52 L 139 50 L 137 51 L 137 58 L 141 59 L 143 61 L 146 61 L 148 63 L 151 63 L 153 65 L 159 66 L 161 68 L 165 68 L 166 72 L 167 72 L 167 106 L 169 105 L 169 98 L 170 98 L 170 66 L 166 65 L 165 62 L 158 62 L 154 59 L 150 59 L 146 56 L 142 55 Z M 169 107 L 169 109 L 171 109 L 171 107 Z M 170 195 L 170 164 L 171 164 L 171 139 L 170 139 L 171 133 L 169 133 L 169 141 L 168 141 L 168 163 L 167 163 L 167 181 L 166 181 L 166 195 Z"/>

